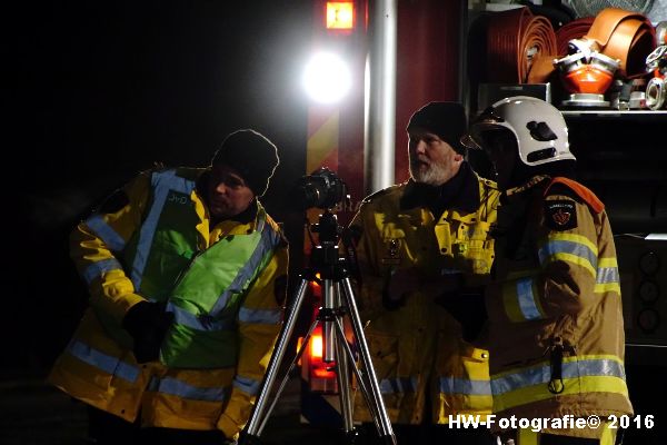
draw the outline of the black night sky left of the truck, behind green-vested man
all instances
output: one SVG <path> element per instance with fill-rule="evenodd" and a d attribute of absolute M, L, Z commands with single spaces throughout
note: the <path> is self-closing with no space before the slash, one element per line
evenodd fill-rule
<path fill-rule="evenodd" d="M 203 166 L 228 132 L 255 128 L 281 152 L 265 202 L 283 216 L 286 185 L 305 170 L 298 77 L 312 2 L 74 0 L 3 16 L 3 151 L 19 212 L 4 211 L 0 377 L 40 374 L 68 340 L 86 295 L 68 233 L 153 161 Z"/>

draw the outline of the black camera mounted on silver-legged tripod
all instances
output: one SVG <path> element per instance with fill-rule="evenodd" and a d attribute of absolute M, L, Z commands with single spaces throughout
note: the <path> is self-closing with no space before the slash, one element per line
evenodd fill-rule
<path fill-rule="evenodd" d="M 296 367 L 306 350 L 306 346 L 312 337 L 316 326 L 321 325 L 322 362 L 330 364 L 336 373 L 344 433 L 347 443 L 356 443 L 357 437 L 352 419 L 354 397 L 351 373 L 354 373 L 356 383 L 372 413 L 379 436 L 387 445 L 396 445 L 396 436 L 394 435 L 394 429 L 391 428 L 387 408 L 380 393 L 380 386 L 375 374 L 350 280 L 350 276 L 352 275 L 349 270 L 350 267 L 357 269 L 355 267 L 356 255 L 354 254 L 354 246 L 351 243 L 346 243 L 350 239 L 350 230 L 341 227 L 338 224 L 336 215 L 332 212 L 335 207 L 351 209 L 347 186 L 334 171 L 322 167 L 310 175 L 303 176 L 298 181 L 292 194 L 297 194 L 300 198 L 299 204 L 302 209 L 317 207 L 322 209 L 323 212 L 319 216 L 318 224 L 307 224 L 308 235 L 313 246 L 310 253 L 309 266 L 300 275 L 301 279 L 297 286 L 297 291 L 286 312 L 286 319 L 282 323 L 273 354 L 267 366 L 267 373 L 257 394 L 252 413 L 239 437 L 239 444 L 252 445 L 258 443 L 268 415 L 273 409 L 278 397 L 282 393 L 291 370 Z M 296 199 L 292 200 L 292 202 L 295 201 Z M 319 234 L 319 244 L 315 243 L 311 229 Z M 339 241 L 341 239 L 347 258 L 340 256 Z M 358 275 L 358 270 L 355 271 Z M 269 403 L 269 395 L 278 377 L 278 369 L 281 368 L 285 352 L 287 350 L 298 314 L 303 304 L 308 284 L 316 278 L 322 288 L 322 306 L 319 308 L 316 319 L 303 337 L 297 355 L 292 358 L 287 372 L 283 374 L 272 402 Z M 344 317 L 349 319 L 356 343 L 356 354 L 348 344 L 344 327 Z M 357 366 L 357 363 L 359 366 Z"/>

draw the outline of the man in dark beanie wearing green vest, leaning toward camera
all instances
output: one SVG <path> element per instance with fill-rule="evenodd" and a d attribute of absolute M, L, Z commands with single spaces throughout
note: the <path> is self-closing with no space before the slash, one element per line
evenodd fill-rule
<path fill-rule="evenodd" d="M 230 134 L 207 168 L 146 171 L 71 235 L 91 294 L 50 382 L 98 444 L 210 444 L 245 426 L 282 317 L 288 247 L 261 206 L 278 150 Z"/>

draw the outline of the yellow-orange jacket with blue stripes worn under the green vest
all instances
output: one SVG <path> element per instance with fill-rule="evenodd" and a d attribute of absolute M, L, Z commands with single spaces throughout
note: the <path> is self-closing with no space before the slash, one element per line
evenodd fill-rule
<path fill-rule="evenodd" d="M 205 169 L 188 168 L 141 174 L 72 233 L 71 256 L 89 285 L 90 308 L 57 359 L 49 380 L 72 397 L 128 422 L 140 418 L 142 426 L 219 428 L 227 437 L 233 437 L 249 417 L 279 332 L 288 248 L 278 225 L 263 214 L 259 204 L 256 216 L 250 215 L 243 221 L 225 220 L 210 227 L 208 210 L 197 187 L 197 181 L 205 175 L 208 175 Z M 266 216 L 261 222 L 260 212 Z M 185 228 L 180 233 L 171 230 L 169 236 L 176 244 L 181 243 L 177 238 L 182 236 L 196 249 L 183 251 L 183 258 L 172 256 L 169 264 L 155 259 L 160 274 L 153 275 L 175 286 L 191 267 L 193 258 L 218 241 L 229 241 L 232 236 L 241 237 L 256 230 L 268 230 L 265 233 L 275 239 L 272 247 L 260 255 L 261 261 L 251 257 L 246 269 L 239 273 L 251 274 L 252 280 L 242 286 L 237 283 L 239 288 L 231 290 L 239 295 L 235 296 L 238 303 L 233 314 L 227 310 L 225 319 L 206 318 L 208 314 L 191 316 L 173 306 L 176 320 L 181 318 L 181 323 L 196 327 L 198 323 L 208 326 L 218 323 L 225 325 L 225 329 L 236 332 L 225 337 L 229 344 L 219 344 L 220 350 L 237 353 L 238 358 L 227 366 L 168 367 L 160 360 L 138 364 L 131 342 L 126 342 L 130 337 L 121 323 L 127 312 L 139 301 L 160 299 L 158 295 L 142 294 L 150 293 L 147 289 L 151 288 L 148 284 L 139 285 L 142 269 L 137 265 L 143 267 L 145 264 L 137 254 L 132 254 L 135 260 L 129 261 L 128 250 L 143 248 L 149 251 L 151 246 L 137 247 L 146 243 L 145 238 L 141 238 L 140 234 L 150 231 L 151 225 L 160 218 L 177 218 L 178 227 Z M 263 225 L 263 229 L 258 224 Z M 140 237 L 139 243 L 137 237 Z M 151 248 L 162 249 L 160 246 Z M 261 269 L 248 270 L 252 267 Z M 146 266 L 143 275 L 147 279 L 148 269 L 150 265 Z M 161 276 L 163 274 L 169 276 Z M 230 288 L 233 286 L 232 283 Z M 169 300 L 168 295 L 166 298 Z M 197 310 L 193 306 L 187 309 L 190 313 Z M 206 333 L 201 339 L 206 342 Z M 213 363 L 225 363 L 215 357 L 216 347 L 209 340 L 200 350 L 208 348 Z M 206 362 L 207 357 L 202 358 Z"/>

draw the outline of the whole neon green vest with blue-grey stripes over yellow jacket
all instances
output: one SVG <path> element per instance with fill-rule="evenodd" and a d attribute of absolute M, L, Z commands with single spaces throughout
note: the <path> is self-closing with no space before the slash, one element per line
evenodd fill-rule
<path fill-rule="evenodd" d="M 152 174 L 146 219 L 123 253 L 126 273 L 137 291 L 166 303 L 175 314 L 160 354 L 171 367 L 236 364 L 236 316 L 242 296 L 280 244 L 280 235 L 257 202 L 255 231 L 227 236 L 198 251 L 200 218 L 190 196 L 200 172 L 182 168 Z"/>

